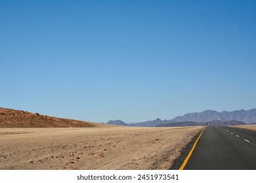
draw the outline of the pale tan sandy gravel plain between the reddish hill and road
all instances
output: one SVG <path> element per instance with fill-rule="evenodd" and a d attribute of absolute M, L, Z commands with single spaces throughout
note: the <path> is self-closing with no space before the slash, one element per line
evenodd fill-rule
<path fill-rule="evenodd" d="M 169 169 L 202 128 L 3 128 L 0 169 Z"/>

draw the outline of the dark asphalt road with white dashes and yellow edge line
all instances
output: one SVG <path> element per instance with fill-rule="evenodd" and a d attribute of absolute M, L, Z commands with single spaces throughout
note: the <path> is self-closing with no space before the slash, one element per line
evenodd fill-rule
<path fill-rule="evenodd" d="M 207 127 L 184 169 L 256 170 L 256 131 Z"/>

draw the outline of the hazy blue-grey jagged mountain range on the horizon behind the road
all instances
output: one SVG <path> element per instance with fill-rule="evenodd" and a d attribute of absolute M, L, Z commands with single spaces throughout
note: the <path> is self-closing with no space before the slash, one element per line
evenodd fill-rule
<path fill-rule="evenodd" d="M 184 114 L 183 116 L 177 116 L 172 120 L 161 120 L 157 118 L 156 120 L 147 121 L 147 122 L 139 122 L 133 124 L 126 124 L 121 120 L 118 120 L 119 124 L 129 125 L 129 126 L 138 126 L 138 127 L 155 127 L 164 124 L 170 124 L 174 122 L 196 122 L 196 123 L 209 123 L 210 125 L 214 124 L 214 122 L 218 122 L 218 124 L 232 124 L 230 121 L 237 121 L 234 124 L 239 124 L 239 122 L 244 122 L 245 124 L 253 124 L 256 123 L 256 108 L 250 110 L 234 110 L 232 112 L 223 111 L 217 112 L 216 110 L 204 110 L 203 112 L 194 112 Z M 229 121 L 229 122 L 228 122 Z M 114 123 L 115 121 L 111 121 Z M 225 123 L 219 123 L 225 122 Z M 184 124 L 183 124 L 184 125 Z"/>

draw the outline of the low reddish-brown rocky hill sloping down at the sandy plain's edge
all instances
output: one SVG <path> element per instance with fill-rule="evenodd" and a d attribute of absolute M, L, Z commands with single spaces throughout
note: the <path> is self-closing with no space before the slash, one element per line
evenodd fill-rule
<path fill-rule="evenodd" d="M 95 127 L 95 124 L 0 108 L 0 127 Z"/>

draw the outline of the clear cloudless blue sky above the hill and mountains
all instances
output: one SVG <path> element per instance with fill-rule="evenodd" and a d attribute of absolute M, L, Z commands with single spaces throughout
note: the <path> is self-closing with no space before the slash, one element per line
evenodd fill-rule
<path fill-rule="evenodd" d="M 256 107 L 256 1 L 2 1 L 0 107 L 143 122 Z"/>

